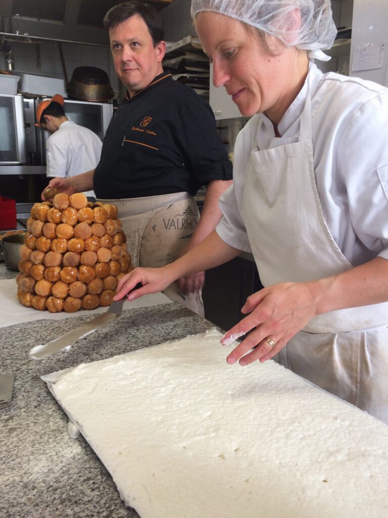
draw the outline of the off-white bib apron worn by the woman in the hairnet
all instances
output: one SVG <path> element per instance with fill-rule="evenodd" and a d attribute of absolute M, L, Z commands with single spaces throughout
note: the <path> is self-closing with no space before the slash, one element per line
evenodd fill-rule
<path fill-rule="evenodd" d="M 352 268 L 323 217 L 313 165 L 311 99 L 301 138 L 252 150 L 243 219 L 261 282 L 302 282 Z M 260 130 L 260 126 L 258 131 Z M 388 424 L 388 303 L 312 319 L 274 359 Z"/>

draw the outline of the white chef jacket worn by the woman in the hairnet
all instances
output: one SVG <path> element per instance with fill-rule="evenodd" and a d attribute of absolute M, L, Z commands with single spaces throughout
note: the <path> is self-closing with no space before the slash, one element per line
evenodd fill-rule
<path fill-rule="evenodd" d="M 326 223 L 353 266 L 378 255 L 388 259 L 388 89 L 354 77 L 322 74 L 314 63 L 309 76 L 314 172 Z M 278 125 L 290 143 L 299 141 L 306 92 L 307 81 Z M 241 215 L 250 153 L 275 147 L 274 137 L 272 122 L 257 114 L 236 139 L 233 185 L 220 198 L 223 218 L 216 231 L 239 250 L 250 252 Z"/>

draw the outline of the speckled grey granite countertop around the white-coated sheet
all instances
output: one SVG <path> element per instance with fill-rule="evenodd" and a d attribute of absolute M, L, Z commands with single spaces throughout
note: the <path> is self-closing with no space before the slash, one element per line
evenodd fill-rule
<path fill-rule="evenodd" d="M 0 279 L 16 272 L 0 263 Z M 81 436 L 70 439 L 68 419 L 39 377 L 213 326 L 177 303 L 126 310 L 120 319 L 43 361 L 33 346 L 66 333 L 90 316 L 37 320 L 0 328 L 0 372 L 14 372 L 11 405 L 0 410 L 0 518 L 138 518 L 124 505 L 106 468 Z M 144 373 L 146 376 L 146 372 Z"/>

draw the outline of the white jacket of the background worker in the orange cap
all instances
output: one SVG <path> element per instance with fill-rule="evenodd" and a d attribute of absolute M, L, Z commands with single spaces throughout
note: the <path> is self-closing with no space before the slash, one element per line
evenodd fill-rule
<path fill-rule="evenodd" d="M 100 161 L 102 142 L 91 130 L 72 121 L 65 121 L 47 139 L 48 177 L 77 176 L 91 171 Z M 86 196 L 95 196 L 87 191 Z"/>

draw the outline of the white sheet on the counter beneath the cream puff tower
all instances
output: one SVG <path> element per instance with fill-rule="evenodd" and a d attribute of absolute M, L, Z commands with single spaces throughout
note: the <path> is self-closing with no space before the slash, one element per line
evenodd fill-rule
<path fill-rule="evenodd" d="M 107 307 L 98 307 L 92 310 L 82 309 L 75 313 L 50 313 L 50 311 L 38 311 L 34 308 L 26 308 L 22 306 L 16 296 L 17 285 L 14 279 L 0 281 L 0 328 L 7 327 L 9 325 L 21 324 L 23 322 L 33 322 L 35 320 L 62 320 L 70 318 L 71 316 L 83 316 L 103 313 L 107 311 Z M 144 295 L 139 299 L 132 300 L 131 302 L 126 300 L 123 306 L 123 310 L 146 308 L 151 306 L 157 306 L 159 304 L 171 304 L 170 300 L 166 295 L 162 293 L 155 293 L 151 295 Z"/>

